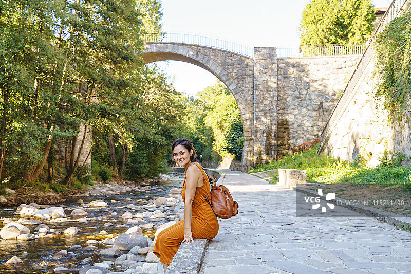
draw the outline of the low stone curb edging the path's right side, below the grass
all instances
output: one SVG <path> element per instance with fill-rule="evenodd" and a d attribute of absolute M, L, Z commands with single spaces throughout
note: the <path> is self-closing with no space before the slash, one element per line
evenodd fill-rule
<path fill-rule="evenodd" d="M 320 197 L 322 200 L 326 200 L 325 195 L 320 196 L 317 192 L 301 188 L 301 187 L 292 187 L 297 192 L 302 192 L 305 194 L 310 194 L 313 196 Z M 346 199 L 335 197 L 333 200 L 328 200 L 327 203 L 332 203 L 334 205 L 339 205 L 354 212 L 361 213 L 363 215 L 376 218 L 377 220 L 388 223 L 393 226 L 401 226 L 404 225 L 405 227 L 411 227 L 411 217 L 405 217 L 399 214 L 390 213 L 378 208 L 373 208 L 369 206 L 362 206 L 362 205 L 350 205 Z"/>

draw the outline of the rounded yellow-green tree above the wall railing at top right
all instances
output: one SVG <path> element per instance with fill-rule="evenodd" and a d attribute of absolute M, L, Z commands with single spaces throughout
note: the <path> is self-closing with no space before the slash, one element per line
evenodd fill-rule
<path fill-rule="evenodd" d="M 301 44 L 364 44 L 375 19 L 370 0 L 311 0 L 302 15 Z"/>

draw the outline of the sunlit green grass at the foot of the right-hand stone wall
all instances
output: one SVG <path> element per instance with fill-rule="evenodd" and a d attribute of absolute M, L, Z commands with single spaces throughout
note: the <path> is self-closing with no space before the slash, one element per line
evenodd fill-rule
<path fill-rule="evenodd" d="M 249 173 L 272 170 L 272 184 L 278 181 L 278 170 L 305 169 L 307 182 L 322 184 L 350 183 L 352 185 L 402 185 L 405 191 L 411 191 L 411 167 L 402 167 L 401 161 L 394 154 L 390 161 L 383 161 L 375 168 L 367 168 L 362 159 L 350 163 L 334 159 L 327 155 L 318 155 L 320 144 L 302 153 L 284 156 L 277 161 L 251 169 Z"/>

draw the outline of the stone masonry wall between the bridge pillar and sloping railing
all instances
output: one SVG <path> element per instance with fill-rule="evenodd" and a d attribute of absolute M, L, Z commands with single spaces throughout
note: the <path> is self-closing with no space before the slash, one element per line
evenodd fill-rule
<path fill-rule="evenodd" d="M 320 139 L 360 56 L 278 58 L 277 155 Z"/>

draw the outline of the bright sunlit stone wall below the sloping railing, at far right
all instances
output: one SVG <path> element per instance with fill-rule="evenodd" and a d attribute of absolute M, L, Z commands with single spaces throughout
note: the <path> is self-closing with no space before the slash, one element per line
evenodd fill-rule
<path fill-rule="evenodd" d="M 368 167 L 380 163 L 386 152 L 405 154 L 403 164 L 411 156 L 411 109 L 403 113 L 400 123 L 389 122 L 387 112 L 373 99 L 375 62 L 371 60 L 345 102 L 341 117 L 330 126 L 322 143 L 324 153 L 342 160 L 353 161 L 360 155 Z M 389 155 L 388 155 L 389 156 Z"/>

